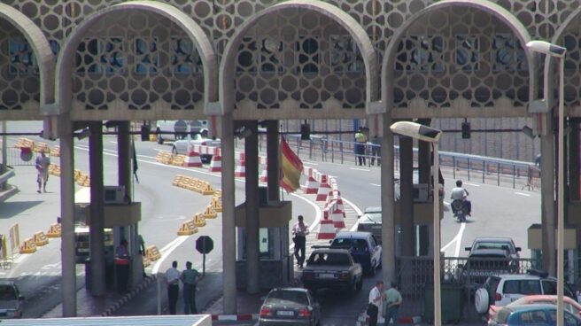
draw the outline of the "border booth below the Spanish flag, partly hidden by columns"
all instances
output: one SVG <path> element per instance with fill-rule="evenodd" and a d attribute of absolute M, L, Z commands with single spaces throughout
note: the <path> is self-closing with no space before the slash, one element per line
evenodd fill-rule
<path fill-rule="evenodd" d="M 289 252 L 290 201 L 264 201 L 259 208 L 260 219 L 260 289 L 288 285 L 293 276 Z M 246 286 L 246 212 L 245 204 L 236 206 L 236 286 Z"/>

